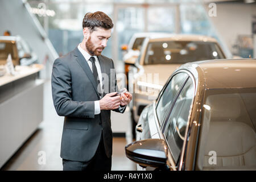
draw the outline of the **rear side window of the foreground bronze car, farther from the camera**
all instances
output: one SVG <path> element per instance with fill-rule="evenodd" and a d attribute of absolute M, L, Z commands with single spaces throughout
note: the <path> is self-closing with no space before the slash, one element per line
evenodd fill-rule
<path fill-rule="evenodd" d="M 158 116 L 160 126 L 162 126 L 164 119 L 169 113 L 172 102 L 179 91 L 180 86 L 187 77 L 187 73 L 177 73 L 177 75 L 171 78 L 170 82 L 168 82 L 166 88 L 164 89 L 163 94 L 156 106 L 156 115 Z"/>

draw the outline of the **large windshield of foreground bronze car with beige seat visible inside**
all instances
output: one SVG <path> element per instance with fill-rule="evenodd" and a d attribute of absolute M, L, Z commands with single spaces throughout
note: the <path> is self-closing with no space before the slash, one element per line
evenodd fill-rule
<path fill-rule="evenodd" d="M 256 169 L 256 89 L 207 90 L 203 169 Z"/>

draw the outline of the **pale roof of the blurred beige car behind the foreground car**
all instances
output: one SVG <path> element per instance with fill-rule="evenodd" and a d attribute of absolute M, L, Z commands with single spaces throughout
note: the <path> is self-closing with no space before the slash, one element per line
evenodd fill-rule
<path fill-rule="evenodd" d="M 193 34 L 169 34 L 164 38 L 150 38 L 150 42 L 162 42 L 162 41 L 198 41 L 198 42 L 214 42 L 217 40 L 204 35 L 193 35 Z"/>

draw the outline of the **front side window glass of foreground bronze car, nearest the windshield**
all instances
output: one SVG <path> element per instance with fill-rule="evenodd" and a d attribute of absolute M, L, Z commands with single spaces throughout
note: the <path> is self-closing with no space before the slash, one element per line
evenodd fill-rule
<path fill-rule="evenodd" d="M 193 82 L 189 78 L 181 90 L 166 122 L 164 137 L 170 148 L 172 158 L 177 163 L 185 140 L 185 130 L 188 124 L 189 111 L 193 100 Z"/>

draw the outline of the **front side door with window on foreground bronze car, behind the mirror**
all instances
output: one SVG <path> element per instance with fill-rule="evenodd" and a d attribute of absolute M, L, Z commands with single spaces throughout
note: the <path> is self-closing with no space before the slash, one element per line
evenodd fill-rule
<path fill-rule="evenodd" d="M 188 77 L 181 86 L 162 126 L 162 137 L 168 146 L 168 161 L 175 164 L 175 168 L 182 163 L 181 154 L 187 138 L 187 127 L 192 109 L 193 97 L 195 95 L 195 82 Z M 172 167 L 174 167 L 172 165 Z"/>

